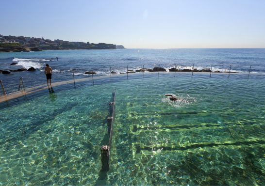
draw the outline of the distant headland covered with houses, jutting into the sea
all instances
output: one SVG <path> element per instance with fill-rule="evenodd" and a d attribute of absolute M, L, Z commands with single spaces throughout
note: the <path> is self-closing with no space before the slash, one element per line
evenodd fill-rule
<path fill-rule="evenodd" d="M 70 42 L 62 39 L 50 39 L 12 36 L 0 34 L 0 52 L 27 52 L 42 50 L 67 50 L 67 49 L 117 49 L 122 45 L 89 42 Z"/>

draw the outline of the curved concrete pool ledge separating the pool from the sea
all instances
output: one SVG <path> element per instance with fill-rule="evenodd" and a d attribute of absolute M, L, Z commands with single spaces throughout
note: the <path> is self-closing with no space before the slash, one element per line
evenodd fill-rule
<path fill-rule="evenodd" d="M 159 72 L 160 74 L 174 74 L 175 72 Z M 135 75 L 141 75 L 142 73 L 129 73 L 128 76 L 135 76 Z M 146 74 L 146 73 L 144 73 Z M 157 74 L 158 72 L 148 72 L 147 74 Z M 177 74 L 191 74 L 191 72 L 176 72 L 176 78 L 177 78 Z M 210 74 L 209 72 L 194 72 L 193 74 Z M 224 72 L 224 73 L 215 73 L 212 72 L 212 74 L 218 74 L 218 75 L 228 75 L 228 73 Z M 248 73 L 231 73 L 231 75 L 247 75 Z M 259 74 L 259 73 L 255 73 L 255 74 L 251 74 L 251 75 L 264 75 L 264 74 Z M 127 73 L 124 74 L 112 74 L 112 77 L 117 77 L 117 76 L 126 76 L 127 77 Z M 69 84 L 69 83 L 74 83 L 74 82 L 83 82 L 83 81 L 92 81 L 93 79 L 102 79 L 102 78 L 111 78 L 110 76 L 96 76 L 96 77 L 89 77 L 89 78 L 78 78 L 74 80 L 67 80 L 67 81 L 58 81 L 58 82 L 53 82 L 52 83 L 52 87 L 56 87 L 56 86 L 60 86 L 60 85 L 65 85 L 65 84 Z M 174 78 L 174 77 L 173 77 Z M 47 84 L 43 84 L 43 85 L 38 85 L 35 87 L 31 87 L 31 88 L 27 88 L 25 89 L 25 91 L 17 91 L 17 92 L 13 92 L 13 93 L 9 93 L 7 95 L 2 95 L 0 96 L 0 103 L 2 102 L 7 102 L 11 99 L 15 99 L 18 97 L 22 97 L 31 93 L 36 93 L 39 91 L 43 91 L 43 90 L 48 90 L 48 86 Z"/>

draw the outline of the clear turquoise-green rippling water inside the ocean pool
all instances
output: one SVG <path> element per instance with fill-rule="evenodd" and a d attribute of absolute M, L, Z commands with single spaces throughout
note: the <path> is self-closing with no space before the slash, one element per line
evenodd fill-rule
<path fill-rule="evenodd" d="M 95 80 L 2 104 L 0 184 L 265 185 L 265 76 L 173 76 Z M 100 180 L 114 88 L 110 171 Z"/>

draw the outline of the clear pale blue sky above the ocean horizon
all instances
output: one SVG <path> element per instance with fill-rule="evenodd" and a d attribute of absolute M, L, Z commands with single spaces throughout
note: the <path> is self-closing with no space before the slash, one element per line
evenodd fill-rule
<path fill-rule="evenodd" d="M 265 0 L 1 0 L 0 34 L 127 48 L 265 47 Z"/>

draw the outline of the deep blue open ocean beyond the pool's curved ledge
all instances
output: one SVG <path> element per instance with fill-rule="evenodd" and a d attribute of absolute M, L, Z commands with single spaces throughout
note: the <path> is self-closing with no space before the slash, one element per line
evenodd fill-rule
<path fill-rule="evenodd" d="M 58 61 L 56 60 L 58 57 Z M 10 65 L 17 62 L 17 65 Z M 34 67 L 34 72 L 0 74 L 7 93 L 17 91 L 19 78 L 25 87 L 46 83 L 45 64 L 53 69 L 54 82 L 90 77 L 85 71 L 95 71 L 96 76 L 110 76 L 110 71 L 126 73 L 128 69 L 163 67 L 178 69 L 204 69 L 212 71 L 265 74 L 265 48 L 235 49 L 114 49 L 114 50 L 46 50 L 40 52 L 2 52 L 0 70 L 17 70 Z M 143 66 L 144 65 L 144 66 Z M 213 65 L 213 66 L 212 66 Z"/>

